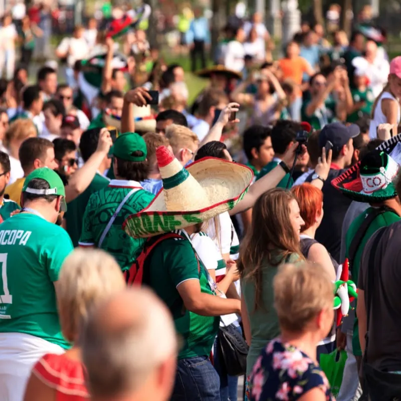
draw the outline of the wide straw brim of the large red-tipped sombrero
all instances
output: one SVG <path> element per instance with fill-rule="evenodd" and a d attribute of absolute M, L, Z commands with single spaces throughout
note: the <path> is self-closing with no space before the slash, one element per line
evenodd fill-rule
<path fill-rule="evenodd" d="M 146 209 L 125 220 L 123 229 L 129 236 L 152 237 L 184 229 L 227 212 L 243 198 L 254 175 L 247 166 L 214 157 L 197 160 L 186 169 L 205 190 L 209 199 L 208 207 L 201 210 L 167 211 L 164 191 L 161 189 Z M 177 193 L 177 196 L 185 197 L 188 194 Z"/>

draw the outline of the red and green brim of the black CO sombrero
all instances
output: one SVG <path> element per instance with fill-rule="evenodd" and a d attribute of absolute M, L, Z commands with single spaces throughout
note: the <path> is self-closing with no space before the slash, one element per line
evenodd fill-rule
<path fill-rule="evenodd" d="M 359 175 L 360 162 L 343 172 L 331 181 L 334 188 L 339 189 L 346 197 L 356 202 L 377 203 L 391 199 L 397 195 L 394 184 L 389 183 L 385 188 L 381 188 L 371 193 L 363 192 L 362 181 Z"/>

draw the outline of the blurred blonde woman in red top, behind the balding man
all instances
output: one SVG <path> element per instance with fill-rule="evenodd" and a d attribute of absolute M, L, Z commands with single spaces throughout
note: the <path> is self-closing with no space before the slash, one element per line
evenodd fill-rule
<path fill-rule="evenodd" d="M 125 287 L 120 267 L 106 252 L 76 249 L 67 257 L 57 281 L 57 303 L 63 335 L 74 345 L 64 354 L 46 354 L 36 363 L 24 401 L 90 398 L 81 359 L 81 329 L 92 308 Z"/>

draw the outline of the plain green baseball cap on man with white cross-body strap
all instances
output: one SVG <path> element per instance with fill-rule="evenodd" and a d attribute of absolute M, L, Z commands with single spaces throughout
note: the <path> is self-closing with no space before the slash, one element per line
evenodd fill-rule
<path fill-rule="evenodd" d="M 134 156 L 132 153 L 140 150 L 142 156 Z M 147 148 L 144 139 L 135 132 L 125 132 L 118 136 L 109 154 L 128 161 L 144 161 L 147 156 Z"/>

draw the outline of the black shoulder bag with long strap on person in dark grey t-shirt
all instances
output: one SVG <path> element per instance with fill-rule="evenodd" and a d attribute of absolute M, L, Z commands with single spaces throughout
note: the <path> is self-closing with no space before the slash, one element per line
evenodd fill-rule
<path fill-rule="evenodd" d="M 376 238 L 370 248 L 369 255 L 369 263 L 367 269 L 367 308 L 366 308 L 366 346 L 365 352 L 363 354 L 363 392 L 364 397 L 368 396 L 370 401 L 397 401 L 401 400 L 401 374 L 390 373 L 385 370 L 380 370 L 372 365 L 370 365 L 367 361 L 367 344 L 369 341 L 369 317 L 370 317 L 370 308 L 373 303 L 373 287 L 374 284 L 382 286 L 381 275 L 379 272 L 378 280 L 374 283 L 374 269 L 375 269 L 375 261 L 374 255 L 377 249 L 377 245 L 383 234 L 385 233 L 386 228 L 381 228 L 378 230 Z M 380 269 L 380 266 L 377 266 Z M 385 298 L 384 300 L 388 302 Z M 401 370 L 398 366 L 394 368 L 394 370 Z M 365 394 L 367 393 L 367 394 Z"/>

